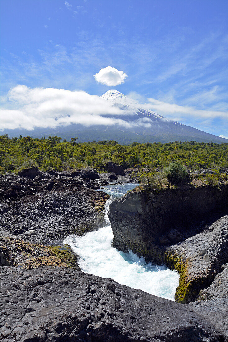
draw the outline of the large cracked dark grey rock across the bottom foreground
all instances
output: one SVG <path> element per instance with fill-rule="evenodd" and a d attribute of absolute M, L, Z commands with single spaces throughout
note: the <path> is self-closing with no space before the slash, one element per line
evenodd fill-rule
<path fill-rule="evenodd" d="M 1 267 L 2 342 L 228 341 L 207 315 L 63 267 Z"/>

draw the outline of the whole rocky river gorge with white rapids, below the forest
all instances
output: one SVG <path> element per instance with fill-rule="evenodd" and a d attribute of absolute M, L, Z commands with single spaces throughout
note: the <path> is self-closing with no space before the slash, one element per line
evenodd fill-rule
<path fill-rule="evenodd" d="M 228 341 L 226 183 L 131 181 L 0 175 L 1 341 Z"/>

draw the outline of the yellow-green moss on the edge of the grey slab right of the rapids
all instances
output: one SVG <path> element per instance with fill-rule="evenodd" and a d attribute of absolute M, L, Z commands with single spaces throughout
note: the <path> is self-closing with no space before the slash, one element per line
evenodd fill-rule
<path fill-rule="evenodd" d="M 175 301 L 179 303 L 189 303 L 189 295 L 192 290 L 192 284 L 188 281 L 188 262 L 184 262 L 169 252 L 164 254 L 166 265 L 175 269 L 180 275 L 179 285 L 175 293 Z"/>

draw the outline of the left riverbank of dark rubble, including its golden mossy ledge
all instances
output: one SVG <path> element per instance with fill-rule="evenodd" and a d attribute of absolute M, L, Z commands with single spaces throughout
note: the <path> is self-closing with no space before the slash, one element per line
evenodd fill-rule
<path fill-rule="evenodd" d="M 0 175 L 0 264 L 78 268 L 77 255 L 62 241 L 103 224 L 109 196 L 93 190 L 100 188 L 96 181 L 109 183 L 94 169 L 44 173 L 32 167 Z"/>

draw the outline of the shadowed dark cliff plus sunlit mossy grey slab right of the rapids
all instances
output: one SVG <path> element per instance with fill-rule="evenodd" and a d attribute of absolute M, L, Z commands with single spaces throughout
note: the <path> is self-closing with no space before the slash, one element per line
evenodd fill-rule
<path fill-rule="evenodd" d="M 228 216 L 199 226 L 203 215 L 227 209 L 228 187 L 193 184 L 150 195 L 138 188 L 112 202 L 109 211 L 113 246 L 175 269 L 175 300 L 181 303 L 194 301 L 228 262 Z"/>

